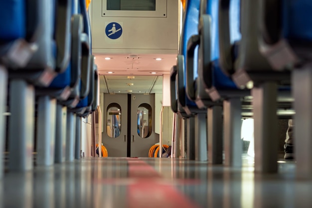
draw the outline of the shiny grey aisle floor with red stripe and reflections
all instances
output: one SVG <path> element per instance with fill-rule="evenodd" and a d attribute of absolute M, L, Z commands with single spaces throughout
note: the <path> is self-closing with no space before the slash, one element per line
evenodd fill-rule
<path fill-rule="evenodd" d="M 312 205 L 312 181 L 295 162 L 260 175 L 185 159 L 84 158 L 24 174 L 5 173 L 0 208 L 299 208 Z"/>

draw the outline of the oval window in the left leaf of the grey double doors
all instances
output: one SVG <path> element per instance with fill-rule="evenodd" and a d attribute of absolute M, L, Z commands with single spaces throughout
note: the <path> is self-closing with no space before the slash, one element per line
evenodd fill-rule
<path fill-rule="evenodd" d="M 121 132 L 121 107 L 117 103 L 107 106 L 106 133 L 111 138 L 119 137 Z"/>

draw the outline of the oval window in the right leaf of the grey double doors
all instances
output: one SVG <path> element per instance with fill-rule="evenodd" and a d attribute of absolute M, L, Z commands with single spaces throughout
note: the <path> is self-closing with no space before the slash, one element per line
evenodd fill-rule
<path fill-rule="evenodd" d="M 141 138 L 148 138 L 152 134 L 152 107 L 143 103 L 137 110 L 137 131 Z"/>

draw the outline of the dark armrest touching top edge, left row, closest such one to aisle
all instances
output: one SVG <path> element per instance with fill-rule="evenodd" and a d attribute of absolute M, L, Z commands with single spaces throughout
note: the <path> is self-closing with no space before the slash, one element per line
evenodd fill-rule
<path fill-rule="evenodd" d="M 56 0 L 55 41 L 57 47 L 56 72 L 66 70 L 70 61 L 70 30 L 72 0 Z"/>

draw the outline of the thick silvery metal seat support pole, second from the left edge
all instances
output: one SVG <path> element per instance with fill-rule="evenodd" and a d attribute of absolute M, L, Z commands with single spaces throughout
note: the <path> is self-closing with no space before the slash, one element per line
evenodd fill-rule
<path fill-rule="evenodd" d="M 9 170 L 32 170 L 34 142 L 34 87 L 23 79 L 10 81 Z"/>

